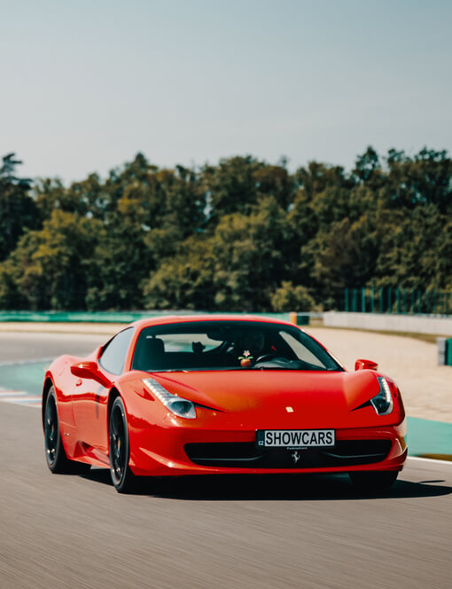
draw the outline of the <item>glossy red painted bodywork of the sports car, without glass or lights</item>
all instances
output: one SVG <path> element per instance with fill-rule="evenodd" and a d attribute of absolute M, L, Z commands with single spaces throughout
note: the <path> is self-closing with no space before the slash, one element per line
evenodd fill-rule
<path fill-rule="evenodd" d="M 112 392 L 122 397 L 129 426 L 129 467 L 136 475 L 270 474 L 401 470 L 407 457 L 406 421 L 401 394 L 386 378 L 394 409 L 378 415 L 367 404 L 378 394 L 378 376 L 371 370 L 355 373 L 294 370 L 193 371 L 144 373 L 130 370 L 136 340 L 144 327 L 193 321 L 258 321 L 291 325 L 273 319 L 240 316 L 175 316 L 132 324 L 134 334 L 121 375 L 99 373 L 110 386 L 80 378 L 71 365 L 97 363 L 102 348 L 89 357 L 58 357 L 44 380 L 43 397 L 53 384 L 66 455 L 95 466 L 108 467 L 108 408 Z M 292 326 L 293 327 L 293 326 Z M 319 342 L 320 343 L 320 342 Z M 171 393 L 197 404 L 197 418 L 184 419 L 160 402 L 144 385 L 152 378 Z M 44 399 L 43 399 L 44 401 Z M 44 403 L 43 403 L 44 405 Z M 364 405 L 364 406 L 362 406 Z M 287 409 L 290 408 L 290 409 Z M 334 429 L 336 440 L 387 440 L 386 458 L 350 466 L 289 467 L 206 466 L 187 455 L 186 444 L 254 444 L 258 429 Z"/>

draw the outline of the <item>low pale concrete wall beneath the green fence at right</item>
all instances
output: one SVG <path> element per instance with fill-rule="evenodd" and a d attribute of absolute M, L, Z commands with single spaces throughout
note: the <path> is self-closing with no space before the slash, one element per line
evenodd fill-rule
<path fill-rule="evenodd" d="M 437 334 L 452 337 L 452 317 L 419 317 L 383 313 L 323 313 L 325 327 L 349 327 L 375 331 L 398 331 L 413 334 Z"/>

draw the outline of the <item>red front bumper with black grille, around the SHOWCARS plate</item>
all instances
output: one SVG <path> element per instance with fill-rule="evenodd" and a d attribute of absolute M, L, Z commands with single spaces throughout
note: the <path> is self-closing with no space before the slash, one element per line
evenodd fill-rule
<path fill-rule="evenodd" d="M 406 421 L 394 426 L 337 428 L 331 448 L 262 451 L 254 430 L 149 428 L 130 436 L 136 475 L 338 473 L 401 470 L 407 458 Z"/>

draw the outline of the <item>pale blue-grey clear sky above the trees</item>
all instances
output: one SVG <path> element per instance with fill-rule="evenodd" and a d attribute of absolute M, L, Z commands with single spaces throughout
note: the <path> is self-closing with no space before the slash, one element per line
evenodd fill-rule
<path fill-rule="evenodd" d="M 0 156 L 68 183 L 138 151 L 450 153 L 451 30 L 450 0 L 0 0 Z"/>

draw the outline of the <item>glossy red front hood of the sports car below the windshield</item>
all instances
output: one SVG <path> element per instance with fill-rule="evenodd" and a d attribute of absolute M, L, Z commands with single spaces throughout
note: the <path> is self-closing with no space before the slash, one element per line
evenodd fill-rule
<path fill-rule="evenodd" d="M 306 372 L 238 370 L 152 374 L 166 389 L 222 412 L 302 414 L 309 423 L 319 414 L 347 414 L 378 394 L 378 374 L 362 370 Z M 292 409 L 287 410 L 287 407 Z M 373 412 L 373 410 L 372 410 Z M 373 412 L 375 414 L 375 412 Z"/>

